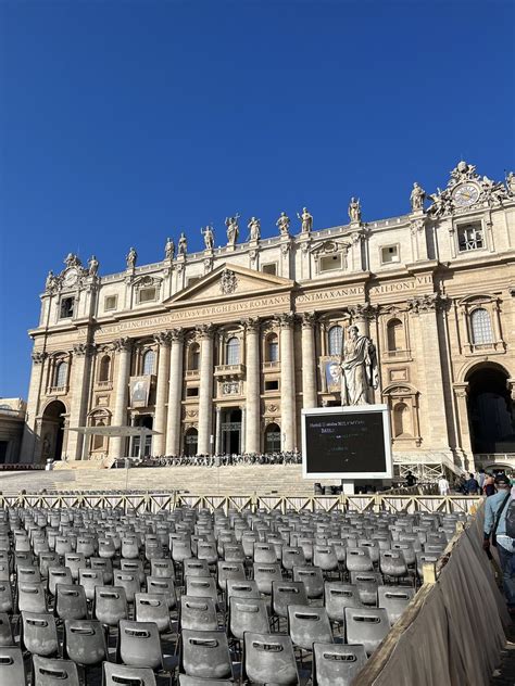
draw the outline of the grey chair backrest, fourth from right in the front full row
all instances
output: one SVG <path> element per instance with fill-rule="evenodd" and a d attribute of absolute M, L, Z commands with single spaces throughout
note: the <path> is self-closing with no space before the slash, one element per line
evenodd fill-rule
<path fill-rule="evenodd" d="M 121 620 L 116 656 L 124 664 L 162 670 L 163 651 L 155 623 Z"/>

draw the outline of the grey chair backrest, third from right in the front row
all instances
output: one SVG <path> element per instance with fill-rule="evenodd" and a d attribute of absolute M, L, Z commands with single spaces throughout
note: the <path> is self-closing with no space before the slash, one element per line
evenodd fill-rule
<path fill-rule="evenodd" d="M 224 631 L 184 630 L 179 672 L 201 678 L 233 678 L 233 662 Z"/>

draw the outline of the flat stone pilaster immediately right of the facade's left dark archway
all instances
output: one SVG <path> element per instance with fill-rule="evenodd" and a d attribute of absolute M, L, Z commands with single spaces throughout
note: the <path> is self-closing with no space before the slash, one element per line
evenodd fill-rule
<path fill-rule="evenodd" d="M 71 369 L 73 374 L 73 381 L 71 383 L 72 403 L 70 407 L 68 421 L 68 425 L 72 429 L 86 425 L 91 352 L 92 348 L 87 343 L 77 343 L 73 346 L 73 361 Z M 65 450 L 66 457 L 70 460 L 79 460 L 83 457 L 84 441 L 88 441 L 87 436 L 81 433 L 77 433 L 76 431 L 70 431 Z"/>

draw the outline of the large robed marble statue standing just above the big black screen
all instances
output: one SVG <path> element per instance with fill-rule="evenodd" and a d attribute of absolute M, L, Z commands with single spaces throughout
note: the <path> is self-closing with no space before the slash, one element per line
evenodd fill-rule
<path fill-rule="evenodd" d="M 368 389 L 377 389 L 378 384 L 374 344 L 368 336 L 360 335 L 357 327 L 350 327 L 341 359 L 341 404 L 366 405 Z"/>

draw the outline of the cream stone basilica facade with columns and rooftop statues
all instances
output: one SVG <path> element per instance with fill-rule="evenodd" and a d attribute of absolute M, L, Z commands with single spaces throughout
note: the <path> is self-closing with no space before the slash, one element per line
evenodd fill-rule
<path fill-rule="evenodd" d="M 70 254 L 49 274 L 34 340 L 22 461 L 300 449 L 302 408 L 339 405 L 349 327 L 370 338 L 400 467 L 515 454 L 515 180 L 465 162 L 443 190 L 414 185 L 399 217 L 318 228 L 306 208 L 277 234 L 258 218 L 190 253 L 101 275 Z M 244 223 L 247 225 L 247 221 Z M 247 231 L 248 229 L 248 231 Z M 240 239 L 240 232 L 242 233 Z M 225 233 L 225 232 L 224 232 Z M 84 427 L 146 427 L 146 437 Z M 145 445 L 140 445 L 140 441 Z"/>

